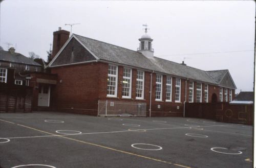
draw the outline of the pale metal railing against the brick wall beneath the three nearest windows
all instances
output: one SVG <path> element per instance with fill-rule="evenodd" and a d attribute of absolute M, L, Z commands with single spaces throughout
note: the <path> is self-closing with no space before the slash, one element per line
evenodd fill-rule
<path fill-rule="evenodd" d="M 105 100 L 98 102 L 98 115 L 146 116 L 146 103 Z"/>

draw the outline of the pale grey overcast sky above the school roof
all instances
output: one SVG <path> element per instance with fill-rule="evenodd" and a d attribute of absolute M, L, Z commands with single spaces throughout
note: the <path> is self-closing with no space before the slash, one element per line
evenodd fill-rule
<path fill-rule="evenodd" d="M 229 69 L 237 92 L 253 90 L 254 1 L 3 1 L 0 45 L 47 60 L 53 32 L 137 50 L 147 23 L 154 55 L 202 70 Z M 204 54 L 202 54 L 204 53 Z M 206 54 L 208 53 L 208 54 Z"/>

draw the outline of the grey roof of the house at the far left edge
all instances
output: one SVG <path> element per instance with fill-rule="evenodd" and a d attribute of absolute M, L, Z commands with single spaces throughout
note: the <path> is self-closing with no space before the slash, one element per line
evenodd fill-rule
<path fill-rule="evenodd" d="M 28 65 L 35 65 L 35 66 L 41 66 L 37 62 L 29 59 L 28 57 L 19 54 L 19 53 L 13 53 L 11 54 L 8 51 L 0 51 L 0 61 L 8 61 L 8 62 L 15 62 L 15 63 L 23 63 Z"/>

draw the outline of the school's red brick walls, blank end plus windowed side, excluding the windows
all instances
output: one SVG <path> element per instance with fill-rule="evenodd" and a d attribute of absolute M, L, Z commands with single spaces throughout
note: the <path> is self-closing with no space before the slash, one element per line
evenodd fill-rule
<path fill-rule="evenodd" d="M 137 69 L 132 69 L 132 96 L 131 99 L 122 98 L 123 66 L 118 66 L 118 92 L 117 98 L 107 98 L 108 87 L 108 66 L 107 63 L 91 63 L 64 67 L 52 68 L 52 73 L 58 74 L 58 83 L 54 91 L 55 105 L 60 111 L 81 112 L 90 115 L 97 115 L 98 100 L 119 100 L 125 102 L 143 102 L 147 104 L 147 115 L 150 111 L 150 83 L 151 72 L 145 71 L 144 75 L 144 100 L 136 100 L 136 79 Z M 152 75 L 152 109 L 151 116 L 183 116 L 183 102 L 185 101 L 185 79 L 181 79 L 181 102 L 175 103 L 175 83 L 173 77 L 172 102 L 166 102 L 166 75 L 163 75 L 162 101 L 156 101 L 156 74 Z M 62 80 L 62 83 L 59 81 Z M 194 102 L 196 102 L 196 84 L 194 82 Z M 186 101 L 188 102 L 187 81 Z M 217 94 L 219 87 L 208 85 L 209 97 Z M 218 98 L 219 99 L 219 98 Z M 204 84 L 202 84 L 202 101 L 204 102 Z M 160 105 L 160 108 L 158 108 Z"/>

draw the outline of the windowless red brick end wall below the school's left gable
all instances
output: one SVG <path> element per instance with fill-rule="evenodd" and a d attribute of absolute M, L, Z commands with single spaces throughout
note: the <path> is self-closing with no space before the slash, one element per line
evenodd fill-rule
<path fill-rule="evenodd" d="M 102 78 L 101 70 L 104 70 L 104 66 L 101 65 L 90 63 L 52 68 L 52 73 L 58 74 L 53 94 L 57 100 L 55 106 L 59 111 L 97 115 L 99 93 L 102 96 L 104 92 L 99 89 L 99 83 L 104 79 L 107 81 Z"/>

